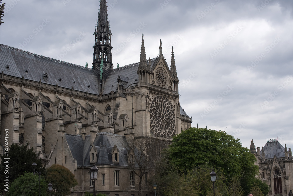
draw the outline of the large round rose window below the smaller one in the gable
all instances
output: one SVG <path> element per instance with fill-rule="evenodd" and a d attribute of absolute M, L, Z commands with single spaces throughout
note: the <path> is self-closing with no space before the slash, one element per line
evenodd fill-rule
<path fill-rule="evenodd" d="M 174 136 L 175 127 L 175 110 L 171 102 L 163 96 L 155 97 L 150 107 L 151 133 Z"/>

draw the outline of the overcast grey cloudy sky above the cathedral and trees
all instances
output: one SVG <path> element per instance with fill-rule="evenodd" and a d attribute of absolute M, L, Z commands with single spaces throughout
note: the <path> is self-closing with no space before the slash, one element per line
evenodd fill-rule
<path fill-rule="evenodd" d="M 91 66 L 98 0 L 2 3 L 0 43 Z M 158 56 L 161 39 L 169 66 L 174 47 L 192 126 L 221 129 L 245 147 L 279 138 L 293 148 L 292 8 L 289 0 L 108 0 L 113 64 L 139 61 L 142 33 L 147 57 Z"/>

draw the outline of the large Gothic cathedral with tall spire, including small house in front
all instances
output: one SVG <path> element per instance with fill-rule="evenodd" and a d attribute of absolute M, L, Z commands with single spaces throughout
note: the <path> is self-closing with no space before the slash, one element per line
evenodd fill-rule
<path fill-rule="evenodd" d="M 132 196 L 138 185 L 127 138 L 151 135 L 167 146 L 192 119 L 180 106 L 173 49 L 170 67 L 161 44 L 147 59 L 142 36 L 139 62 L 113 69 L 106 0 L 94 35 L 92 69 L 0 45 L 0 144 L 8 129 L 9 144 L 29 143 L 47 167 L 67 167 L 78 180 L 72 195 L 93 191 L 96 163 L 98 192 Z"/>

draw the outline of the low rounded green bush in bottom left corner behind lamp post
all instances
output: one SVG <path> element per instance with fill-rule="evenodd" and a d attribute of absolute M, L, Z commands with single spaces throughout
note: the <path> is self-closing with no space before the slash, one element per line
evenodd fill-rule
<path fill-rule="evenodd" d="M 46 195 L 48 188 L 45 179 L 41 176 L 41 195 Z M 20 177 L 16 178 L 11 186 L 7 196 L 38 196 L 39 195 L 39 175 L 33 173 L 24 173 Z"/>

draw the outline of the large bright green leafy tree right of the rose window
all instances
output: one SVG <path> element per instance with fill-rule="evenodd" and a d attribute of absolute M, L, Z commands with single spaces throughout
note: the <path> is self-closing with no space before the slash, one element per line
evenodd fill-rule
<path fill-rule="evenodd" d="M 208 165 L 222 169 L 225 178 L 239 176 L 245 192 L 250 189 L 258 173 L 255 157 L 248 148 L 242 147 L 239 139 L 224 131 L 190 128 L 174 137 L 167 157 L 170 164 L 181 173 Z"/>

